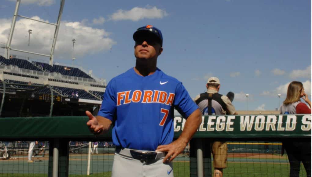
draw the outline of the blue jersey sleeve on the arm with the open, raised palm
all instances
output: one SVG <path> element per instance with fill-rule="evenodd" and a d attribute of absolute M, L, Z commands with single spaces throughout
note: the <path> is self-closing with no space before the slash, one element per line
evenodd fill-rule
<path fill-rule="evenodd" d="M 101 108 L 98 112 L 98 116 L 102 116 L 110 119 L 112 122 L 116 112 L 116 94 L 115 94 L 115 80 L 111 80 L 105 89 Z"/>

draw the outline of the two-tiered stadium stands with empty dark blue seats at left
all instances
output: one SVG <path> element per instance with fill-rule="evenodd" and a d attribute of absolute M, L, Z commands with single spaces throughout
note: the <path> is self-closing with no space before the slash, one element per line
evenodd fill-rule
<path fill-rule="evenodd" d="M 103 99 L 104 92 L 88 92 L 85 91 L 85 89 L 89 90 L 90 86 L 93 87 L 94 90 L 99 90 L 99 88 L 105 88 L 104 79 L 95 80 L 78 68 L 63 65 L 51 66 L 47 63 L 35 61 L 29 62 L 28 60 L 17 58 L 5 59 L 2 56 L 0 56 L 0 66 L 5 82 L 9 83 L 6 84 L 7 90 L 29 90 L 29 92 L 31 92 L 32 89 L 36 89 L 35 93 L 51 94 L 48 87 L 38 89 L 38 86 L 43 86 L 43 84 L 47 83 L 47 81 L 52 81 L 48 83 L 53 87 L 54 95 L 97 101 L 101 101 L 101 99 Z M 12 76 L 20 76 L 20 78 Z M 30 81 L 40 84 L 34 84 Z M 58 84 L 55 82 L 65 83 L 65 87 L 63 87 L 63 84 Z M 88 84 L 86 84 L 86 82 Z M 74 84 L 76 86 L 73 86 L 74 88 L 70 88 L 71 86 L 67 84 Z M 0 81 L 0 90 L 1 89 L 3 89 L 3 84 Z M 84 102 L 85 100 L 81 101 Z"/>

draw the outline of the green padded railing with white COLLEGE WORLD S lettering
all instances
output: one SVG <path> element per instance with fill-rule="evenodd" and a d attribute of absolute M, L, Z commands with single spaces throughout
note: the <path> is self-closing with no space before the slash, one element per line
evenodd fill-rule
<path fill-rule="evenodd" d="M 110 138 L 111 131 L 90 133 L 88 117 L 10 117 L 0 118 L 0 139 L 19 138 Z M 175 137 L 183 130 L 185 119 L 175 116 Z M 194 135 L 197 138 L 309 137 L 311 115 L 236 115 L 205 116 Z"/>

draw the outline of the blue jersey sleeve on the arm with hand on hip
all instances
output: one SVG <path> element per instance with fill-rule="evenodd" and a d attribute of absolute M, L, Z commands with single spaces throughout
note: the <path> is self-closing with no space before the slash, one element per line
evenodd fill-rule
<path fill-rule="evenodd" d="M 192 100 L 182 83 L 178 84 L 176 88 L 173 105 L 184 118 L 188 118 L 196 109 L 198 109 L 197 104 Z"/>

